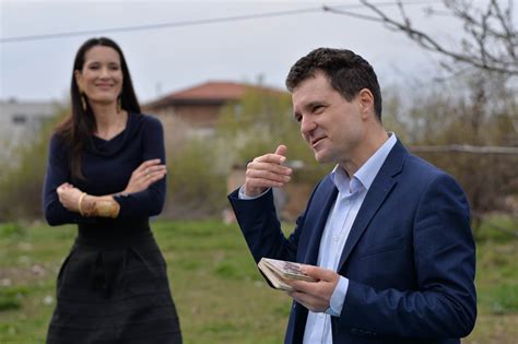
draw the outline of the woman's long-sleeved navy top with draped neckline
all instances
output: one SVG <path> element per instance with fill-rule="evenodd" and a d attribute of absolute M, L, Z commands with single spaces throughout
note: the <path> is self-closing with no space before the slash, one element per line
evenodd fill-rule
<path fill-rule="evenodd" d="M 165 200 L 165 178 L 146 190 L 128 195 L 115 195 L 120 204 L 117 218 L 83 217 L 68 211 L 59 202 L 56 189 L 70 182 L 93 195 L 121 192 L 128 186 L 132 171 L 144 161 L 160 158 L 165 164 L 164 132 L 155 117 L 128 114 L 126 129 L 111 140 L 92 137 L 83 149 L 82 171 L 85 177 L 71 177 L 69 152 L 62 139 L 50 139 L 48 167 L 43 191 L 44 212 L 49 225 L 78 223 L 81 227 L 117 228 L 128 224 L 148 223 L 150 216 L 161 213 Z"/>

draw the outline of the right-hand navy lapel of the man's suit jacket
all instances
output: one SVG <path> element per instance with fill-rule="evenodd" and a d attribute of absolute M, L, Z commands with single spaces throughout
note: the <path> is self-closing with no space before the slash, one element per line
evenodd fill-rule
<path fill-rule="evenodd" d="M 392 190 L 392 188 L 396 186 L 397 180 L 393 177 L 401 171 L 403 161 L 407 155 L 407 150 L 398 140 L 387 156 L 384 165 L 379 169 L 379 173 L 377 174 L 373 183 L 370 185 L 367 195 L 360 207 L 358 214 L 356 215 L 353 226 L 351 227 L 348 240 L 345 241 L 342 256 L 340 257 L 338 271 L 342 269 L 353 248 L 362 237 L 362 234 L 370 223 L 370 220 L 385 202 L 387 195 L 390 193 L 390 190 Z"/>

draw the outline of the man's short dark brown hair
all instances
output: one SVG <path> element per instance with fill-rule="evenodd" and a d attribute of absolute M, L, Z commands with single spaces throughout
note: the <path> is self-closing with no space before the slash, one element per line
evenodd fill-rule
<path fill-rule="evenodd" d="M 373 67 L 360 55 L 348 49 L 318 48 L 293 64 L 286 76 L 286 87 L 293 92 L 301 82 L 323 72 L 331 86 L 348 102 L 363 88 L 374 95 L 374 110 L 381 121 L 381 92 Z"/>

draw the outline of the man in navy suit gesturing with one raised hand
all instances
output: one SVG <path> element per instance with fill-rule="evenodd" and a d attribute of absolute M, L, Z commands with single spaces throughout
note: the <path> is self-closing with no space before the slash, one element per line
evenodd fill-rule
<path fill-rule="evenodd" d="M 315 158 L 335 167 L 289 238 L 271 190 L 290 181 L 286 146 L 249 163 L 245 185 L 228 195 L 256 262 L 301 262 L 318 280 L 291 282 L 285 343 L 460 343 L 476 295 L 459 185 L 382 128 L 378 81 L 361 56 L 316 49 L 286 85 Z"/>

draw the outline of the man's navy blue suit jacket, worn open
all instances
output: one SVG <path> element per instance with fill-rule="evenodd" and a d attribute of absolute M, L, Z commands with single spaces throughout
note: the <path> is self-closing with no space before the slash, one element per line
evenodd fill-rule
<path fill-rule="evenodd" d="M 290 238 L 272 192 L 228 195 L 248 247 L 262 257 L 316 264 L 338 190 L 329 176 L 315 188 Z M 447 174 L 398 142 L 370 186 L 341 254 L 350 280 L 333 343 L 460 343 L 476 317 L 475 248 L 469 206 Z M 302 343 L 307 309 L 293 303 L 285 343 Z"/>

